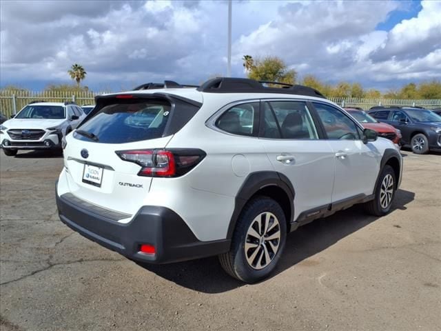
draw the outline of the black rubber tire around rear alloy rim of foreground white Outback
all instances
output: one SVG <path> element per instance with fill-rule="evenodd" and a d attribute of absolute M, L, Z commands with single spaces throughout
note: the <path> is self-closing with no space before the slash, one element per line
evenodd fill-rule
<path fill-rule="evenodd" d="M 266 221 L 266 219 L 263 221 L 263 218 L 265 218 L 266 215 L 261 218 L 263 226 L 265 229 L 269 228 L 271 230 L 267 231 L 262 238 L 257 239 L 249 234 L 249 231 L 251 230 L 252 225 L 257 225 L 256 219 L 258 215 L 263 213 L 269 215 L 268 221 Z M 272 216 L 270 214 L 272 214 Z M 264 232 L 264 229 L 260 230 L 259 234 Z M 279 232 L 279 239 L 271 239 L 268 241 L 265 239 L 265 237 L 278 235 Z M 269 197 L 256 197 L 249 201 L 240 213 L 232 238 L 231 250 L 225 254 L 219 255 L 220 265 L 222 265 L 222 268 L 232 277 L 239 279 L 240 281 L 245 281 L 246 283 L 256 283 L 257 281 L 268 277 L 274 268 L 276 268 L 280 255 L 283 253 L 283 248 L 285 248 L 286 236 L 287 224 L 285 214 L 280 205 Z M 250 240 L 258 241 L 259 243 L 252 243 Z M 246 253 L 246 241 L 247 243 L 256 245 L 256 248 L 248 248 L 248 253 Z M 269 243 L 269 241 L 271 241 L 271 243 Z M 276 249 L 276 252 L 274 252 L 271 247 L 274 247 L 274 245 L 277 244 L 278 248 Z M 253 267 L 247 261 L 247 254 L 249 255 L 248 259 L 251 259 L 255 250 L 258 252 L 256 252 L 254 261 L 257 262 Z M 267 263 L 266 257 L 269 257 L 269 263 Z M 266 265 L 262 268 L 259 264 L 263 265 L 263 261 Z"/>

